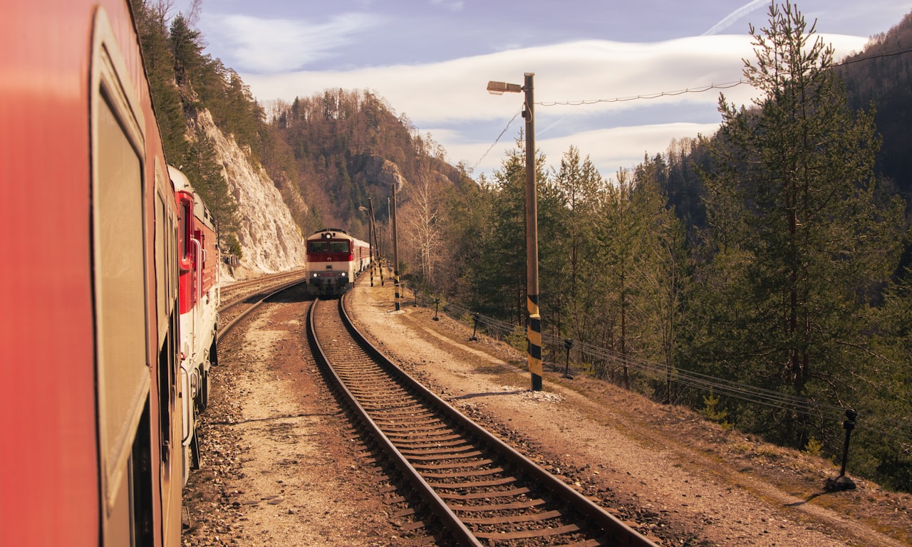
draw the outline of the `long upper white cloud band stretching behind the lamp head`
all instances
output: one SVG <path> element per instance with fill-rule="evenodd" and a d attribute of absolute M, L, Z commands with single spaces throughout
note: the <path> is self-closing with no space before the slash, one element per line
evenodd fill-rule
<path fill-rule="evenodd" d="M 244 75 L 263 100 L 309 96 L 326 88 L 375 90 L 400 112 L 424 124 L 451 119 L 496 119 L 510 110 L 509 96 L 492 99 L 488 80 L 523 84 L 534 72 L 536 102 L 630 98 L 723 83 L 741 77 L 741 57 L 751 53 L 746 36 L 681 38 L 659 44 L 584 41 L 531 47 L 427 65 L 367 67 Z M 715 102 L 713 94 L 702 99 Z M 516 108 L 522 98 L 513 97 Z M 693 98 L 658 98 L 680 102 Z M 583 107 L 630 108 L 626 101 Z"/>

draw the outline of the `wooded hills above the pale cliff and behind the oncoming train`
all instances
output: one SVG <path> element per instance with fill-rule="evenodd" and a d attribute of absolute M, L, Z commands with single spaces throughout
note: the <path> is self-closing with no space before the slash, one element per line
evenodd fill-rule
<path fill-rule="evenodd" d="M 386 222 L 390 184 L 402 185 L 408 202 L 411 182 L 435 191 L 461 183 L 461 171 L 442 160 L 430 136 L 368 91 L 295 98 L 272 105 L 267 117 L 233 69 L 202 53 L 203 36 L 193 27 L 199 2 L 190 15 L 172 15 L 166 0 L 132 5 L 166 157 L 201 192 L 223 247 L 234 253 L 238 204 L 199 122 L 203 109 L 269 173 L 304 233 L 338 227 L 367 240 L 368 217 L 359 208 L 373 198 L 377 221 Z"/>

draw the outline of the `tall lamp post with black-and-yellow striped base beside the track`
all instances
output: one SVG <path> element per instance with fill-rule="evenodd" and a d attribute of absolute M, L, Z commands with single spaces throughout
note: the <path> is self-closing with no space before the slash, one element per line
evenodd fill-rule
<path fill-rule="evenodd" d="M 542 389 L 542 316 L 538 310 L 538 205 L 535 199 L 535 115 L 533 107 L 534 72 L 525 73 L 525 85 L 505 82 L 488 82 L 492 95 L 525 92 L 525 282 L 526 307 L 529 318 L 526 323 L 528 341 L 529 372 L 532 374 L 532 389 Z"/>

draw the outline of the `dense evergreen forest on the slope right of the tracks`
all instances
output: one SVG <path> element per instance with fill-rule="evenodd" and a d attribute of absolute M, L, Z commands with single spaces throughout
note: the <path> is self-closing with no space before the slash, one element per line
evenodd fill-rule
<path fill-rule="evenodd" d="M 586 347 L 575 360 L 596 377 L 835 459 L 854 410 L 854 472 L 910 490 L 909 183 L 895 167 L 909 142 L 876 120 L 907 119 L 912 102 L 895 98 L 907 70 L 885 68 L 884 89 L 871 72 L 912 58 L 878 53 L 904 43 L 909 19 L 857 57 L 876 60 L 837 70 L 793 5 L 769 17 L 744 67 L 761 97 L 721 97 L 716 135 L 612 179 L 574 147 L 556 167 L 539 155 L 543 331 Z M 855 67 L 868 67 L 852 76 L 867 74 L 867 91 L 845 86 Z M 472 202 L 449 232 L 474 248 L 456 255 L 455 283 L 433 287 L 513 324 L 525 313 L 523 158 L 518 139 L 478 197 L 451 202 Z"/>

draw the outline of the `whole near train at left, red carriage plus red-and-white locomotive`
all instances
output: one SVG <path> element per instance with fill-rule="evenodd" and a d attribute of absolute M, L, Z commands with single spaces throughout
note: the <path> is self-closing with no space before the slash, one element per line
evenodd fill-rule
<path fill-rule="evenodd" d="M 127 0 L 0 15 L 0 545 L 176 547 L 212 222 L 168 168 Z"/>

